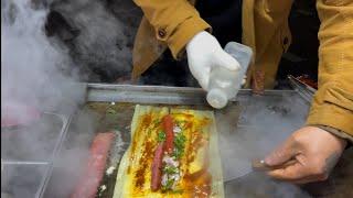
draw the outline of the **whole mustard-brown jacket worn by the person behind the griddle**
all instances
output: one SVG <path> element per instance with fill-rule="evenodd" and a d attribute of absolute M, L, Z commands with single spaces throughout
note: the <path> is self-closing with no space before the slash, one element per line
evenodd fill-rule
<path fill-rule="evenodd" d="M 174 58 L 186 43 L 211 26 L 200 18 L 193 1 L 135 0 L 145 16 L 133 47 L 132 79 L 145 73 L 170 48 Z M 278 63 L 290 45 L 288 15 L 292 0 L 244 0 L 243 43 L 254 51 L 249 86 L 257 72 L 265 73 L 265 88 L 275 82 Z M 353 1 L 317 0 L 319 32 L 319 90 L 307 124 L 327 125 L 353 135 Z"/>

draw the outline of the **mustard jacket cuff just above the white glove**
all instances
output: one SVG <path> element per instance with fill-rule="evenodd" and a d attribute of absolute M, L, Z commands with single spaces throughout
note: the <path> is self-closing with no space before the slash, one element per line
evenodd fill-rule
<path fill-rule="evenodd" d="M 189 41 L 205 30 L 211 32 L 211 26 L 201 18 L 192 16 L 182 22 L 167 42 L 173 57 L 180 59 Z"/>

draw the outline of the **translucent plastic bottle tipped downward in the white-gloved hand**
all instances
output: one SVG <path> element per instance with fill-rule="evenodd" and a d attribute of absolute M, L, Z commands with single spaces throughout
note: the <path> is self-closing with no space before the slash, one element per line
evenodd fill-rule
<path fill-rule="evenodd" d="M 253 56 L 250 47 L 236 42 L 227 43 L 224 51 L 239 63 L 240 70 L 231 72 L 223 67 L 211 70 L 206 99 L 210 106 L 216 109 L 224 108 L 228 100 L 238 94 Z"/>

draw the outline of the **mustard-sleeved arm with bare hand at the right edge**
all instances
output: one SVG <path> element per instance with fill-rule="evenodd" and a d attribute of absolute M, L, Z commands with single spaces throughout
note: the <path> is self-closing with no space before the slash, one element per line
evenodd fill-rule
<path fill-rule="evenodd" d="M 353 136 L 353 2 L 318 0 L 319 90 L 307 125 L 265 160 L 270 166 L 296 163 L 268 175 L 291 183 L 324 180 Z"/>

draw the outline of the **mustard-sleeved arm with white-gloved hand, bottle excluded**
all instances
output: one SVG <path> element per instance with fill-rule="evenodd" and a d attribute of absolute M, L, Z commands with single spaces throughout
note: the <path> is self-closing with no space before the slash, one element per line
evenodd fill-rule
<path fill-rule="evenodd" d="M 186 0 L 135 0 L 153 26 L 157 40 L 165 42 L 178 59 L 186 50 L 191 74 L 207 90 L 214 67 L 237 70 L 239 64 L 223 51 L 218 41 L 205 30 L 211 26 Z"/>

